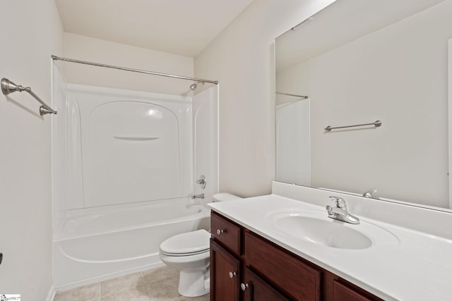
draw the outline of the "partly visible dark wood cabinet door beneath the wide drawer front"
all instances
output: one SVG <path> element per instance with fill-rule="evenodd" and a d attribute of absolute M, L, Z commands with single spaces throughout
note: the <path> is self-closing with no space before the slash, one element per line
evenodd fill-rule
<path fill-rule="evenodd" d="M 244 301 L 289 301 L 248 268 L 245 268 L 241 286 L 244 290 Z"/>

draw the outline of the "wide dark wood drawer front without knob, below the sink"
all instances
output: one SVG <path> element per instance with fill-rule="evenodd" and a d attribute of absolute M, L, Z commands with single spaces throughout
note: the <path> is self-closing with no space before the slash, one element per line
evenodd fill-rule
<path fill-rule="evenodd" d="M 246 265 L 252 266 L 268 281 L 295 300 L 320 300 L 321 271 L 294 254 L 246 231 Z"/>

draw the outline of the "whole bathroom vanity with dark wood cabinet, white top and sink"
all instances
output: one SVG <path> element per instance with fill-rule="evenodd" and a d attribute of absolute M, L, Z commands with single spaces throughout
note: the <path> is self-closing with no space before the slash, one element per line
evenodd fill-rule
<path fill-rule="evenodd" d="M 331 195 L 359 225 L 328 219 Z M 450 300 L 452 240 L 410 225 L 450 226 L 440 212 L 276 182 L 209 206 L 210 300 Z"/>

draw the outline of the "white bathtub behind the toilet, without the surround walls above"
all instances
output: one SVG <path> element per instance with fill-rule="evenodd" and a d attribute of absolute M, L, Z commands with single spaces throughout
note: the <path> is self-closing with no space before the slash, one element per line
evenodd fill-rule
<path fill-rule="evenodd" d="M 210 209 L 186 199 L 69 216 L 54 238 L 58 290 L 161 266 L 160 242 L 210 228 Z"/>

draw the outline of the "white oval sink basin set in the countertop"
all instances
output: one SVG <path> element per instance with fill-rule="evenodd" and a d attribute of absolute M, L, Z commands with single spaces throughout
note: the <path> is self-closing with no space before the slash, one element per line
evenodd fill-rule
<path fill-rule="evenodd" d="M 308 242 L 338 249 L 367 249 L 378 244 L 397 243 L 391 232 L 361 221 L 358 225 L 328 218 L 326 211 L 283 209 L 270 212 L 266 219 L 278 230 Z"/>

